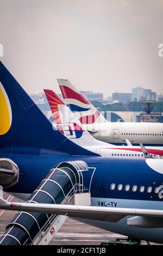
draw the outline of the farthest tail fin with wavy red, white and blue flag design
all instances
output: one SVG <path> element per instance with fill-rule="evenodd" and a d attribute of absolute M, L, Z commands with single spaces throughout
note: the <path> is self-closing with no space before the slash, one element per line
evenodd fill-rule
<path fill-rule="evenodd" d="M 69 80 L 58 79 L 57 81 L 66 105 L 76 114 L 80 123 L 85 125 L 108 122 Z"/>

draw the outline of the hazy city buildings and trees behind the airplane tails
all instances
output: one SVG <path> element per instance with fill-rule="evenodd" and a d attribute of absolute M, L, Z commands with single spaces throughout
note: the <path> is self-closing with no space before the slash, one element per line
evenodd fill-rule
<path fill-rule="evenodd" d="M 163 122 L 163 95 L 142 87 L 132 88 L 132 93 L 112 93 L 104 98 L 102 93 L 80 91 L 108 121 Z M 52 112 L 44 92 L 29 94 L 43 114 L 53 122 Z M 62 94 L 58 94 L 64 101 Z"/>

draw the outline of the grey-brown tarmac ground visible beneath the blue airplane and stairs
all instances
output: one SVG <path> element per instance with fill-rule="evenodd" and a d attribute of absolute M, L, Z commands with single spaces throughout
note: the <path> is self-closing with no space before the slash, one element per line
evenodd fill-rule
<path fill-rule="evenodd" d="M 9 195 L 4 193 L 4 199 L 8 197 Z M 14 201 L 21 202 L 20 199 L 15 197 L 12 198 L 12 202 Z M 0 236 L 3 235 L 5 227 L 15 214 L 15 211 L 3 212 L 0 210 Z M 116 240 L 117 238 L 124 239 L 127 237 L 67 218 L 49 245 L 100 245 L 101 242 Z M 146 242 L 142 244 L 146 245 Z M 151 244 L 155 245 L 155 243 Z"/>

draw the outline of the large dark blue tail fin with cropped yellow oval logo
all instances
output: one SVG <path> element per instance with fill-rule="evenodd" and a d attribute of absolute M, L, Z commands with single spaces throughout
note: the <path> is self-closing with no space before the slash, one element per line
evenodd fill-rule
<path fill-rule="evenodd" d="M 54 154 L 96 155 L 68 140 L 52 124 L 0 62 L 0 151 L 55 150 Z M 28 151 L 28 150 L 27 150 Z"/>

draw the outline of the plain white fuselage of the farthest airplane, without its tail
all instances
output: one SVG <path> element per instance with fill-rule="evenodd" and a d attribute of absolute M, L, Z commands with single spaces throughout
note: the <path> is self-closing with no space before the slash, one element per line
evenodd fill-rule
<path fill-rule="evenodd" d="M 163 145 L 163 124 L 158 123 L 95 123 L 83 125 L 99 141 L 126 144 L 128 139 L 133 145 Z"/>

